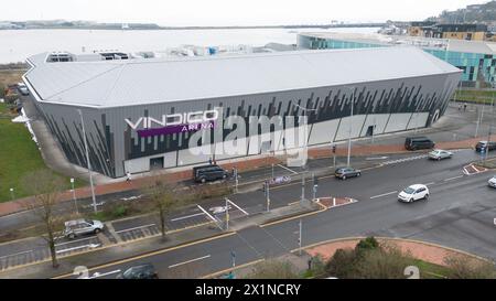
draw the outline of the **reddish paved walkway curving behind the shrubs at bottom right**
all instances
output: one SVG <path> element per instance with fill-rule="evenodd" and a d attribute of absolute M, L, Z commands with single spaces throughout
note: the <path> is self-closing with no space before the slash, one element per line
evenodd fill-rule
<path fill-rule="evenodd" d="M 311 256 L 321 255 L 325 260 L 330 259 L 334 256 L 337 249 L 346 249 L 346 248 L 355 248 L 358 241 L 364 238 L 344 238 L 336 239 L 328 243 L 323 243 L 322 245 L 317 245 L 314 247 L 306 248 L 305 251 Z M 420 240 L 410 240 L 410 239 L 400 239 L 400 238 L 387 238 L 379 237 L 376 238 L 379 243 L 386 243 L 390 245 L 395 245 L 401 249 L 403 252 L 410 251 L 412 257 L 417 259 L 421 259 L 423 261 L 428 261 L 431 264 L 435 264 L 439 266 L 446 266 L 445 259 L 451 256 L 456 255 L 465 255 L 476 259 L 483 259 L 478 256 L 467 254 L 462 250 L 456 250 L 453 248 L 424 243 Z"/>

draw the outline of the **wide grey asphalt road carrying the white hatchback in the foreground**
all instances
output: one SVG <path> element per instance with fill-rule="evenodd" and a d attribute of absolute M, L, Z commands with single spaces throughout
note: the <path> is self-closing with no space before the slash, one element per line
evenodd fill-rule
<path fill-rule="evenodd" d="M 357 179 L 321 179 L 320 195 L 349 196 L 358 202 L 303 217 L 302 245 L 387 233 L 441 240 L 444 245 L 474 252 L 479 251 L 477 246 L 484 243 L 484 255 L 496 258 L 495 248 L 490 248 L 492 238 L 494 240 L 496 190 L 487 186 L 487 180 L 492 176 L 488 172 L 472 175 L 463 173 L 463 166 L 474 159 L 477 159 L 477 154 L 464 150 L 456 152 L 453 159 L 440 162 L 419 158 L 365 171 Z M 413 183 L 428 184 L 431 191 L 429 201 L 412 204 L 398 202 L 397 192 Z M 273 190 L 272 196 L 293 200 L 300 192 L 299 184 L 287 185 Z M 468 221 L 462 223 L 464 232 L 456 232 L 462 228 L 461 225 L 449 225 L 460 221 L 453 212 L 463 221 Z M 443 217 L 443 213 L 448 213 L 450 218 Z M 473 225 L 474 218 L 477 221 L 476 226 Z M 161 278 L 201 277 L 231 267 L 233 251 L 236 265 L 242 265 L 298 248 L 298 219 L 291 219 L 266 227 L 250 227 L 228 237 L 131 258 L 101 269 L 97 267 L 90 275 L 99 272 L 101 278 L 114 278 L 130 266 L 152 262 Z M 401 226 L 405 224 L 409 226 Z M 468 235 L 467 230 L 471 229 L 477 235 Z M 450 239 L 438 239 L 443 234 Z"/>

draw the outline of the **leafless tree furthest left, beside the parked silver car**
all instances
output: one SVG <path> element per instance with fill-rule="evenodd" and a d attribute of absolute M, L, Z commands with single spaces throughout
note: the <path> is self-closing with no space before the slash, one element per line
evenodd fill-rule
<path fill-rule="evenodd" d="M 24 202 L 23 205 L 43 223 L 46 233 L 42 235 L 42 238 L 48 246 L 52 266 L 57 268 L 55 239 L 62 233 L 63 218 L 55 212 L 55 206 L 64 191 L 64 182 L 52 171 L 40 170 L 24 176 L 22 185 L 33 195 L 33 198 Z"/>

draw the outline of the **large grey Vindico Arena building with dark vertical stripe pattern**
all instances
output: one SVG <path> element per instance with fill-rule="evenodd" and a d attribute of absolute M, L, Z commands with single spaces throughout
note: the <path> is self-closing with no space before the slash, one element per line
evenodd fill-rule
<path fill-rule="evenodd" d="M 67 159 L 86 166 L 86 140 L 91 170 L 111 178 L 284 152 L 289 129 L 304 128 L 313 147 L 429 127 L 461 76 L 416 47 L 28 62 L 23 79 Z"/>

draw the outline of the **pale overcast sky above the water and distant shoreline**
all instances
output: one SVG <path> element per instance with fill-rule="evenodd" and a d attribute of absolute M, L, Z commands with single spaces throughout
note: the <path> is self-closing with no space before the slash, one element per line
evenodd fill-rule
<path fill-rule="evenodd" d="M 322 24 L 423 20 L 484 0 L 15 0 L 0 20 L 89 20 L 160 25 Z"/>

